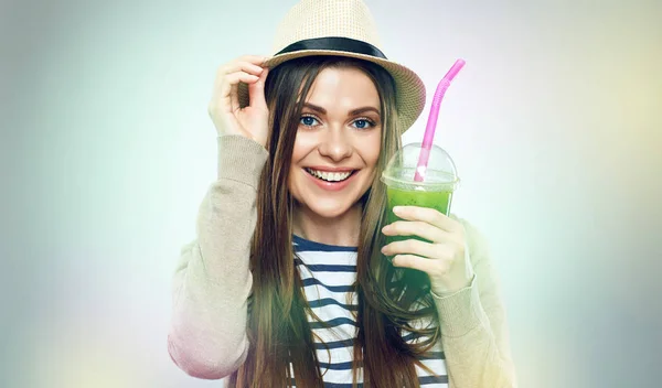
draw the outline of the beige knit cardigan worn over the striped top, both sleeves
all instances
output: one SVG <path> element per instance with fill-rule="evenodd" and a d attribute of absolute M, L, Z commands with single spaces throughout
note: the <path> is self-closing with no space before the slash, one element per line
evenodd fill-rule
<path fill-rule="evenodd" d="M 250 238 L 267 151 L 241 136 L 218 138 L 218 176 L 199 209 L 197 238 L 185 245 L 173 279 L 168 351 L 190 376 L 221 379 L 245 360 Z M 459 219 L 459 218 L 458 218 Z M 516 387 L 505 311 L 484 238 L 468 222 L 470 287 L 436 299 L 449 385 Z"/>

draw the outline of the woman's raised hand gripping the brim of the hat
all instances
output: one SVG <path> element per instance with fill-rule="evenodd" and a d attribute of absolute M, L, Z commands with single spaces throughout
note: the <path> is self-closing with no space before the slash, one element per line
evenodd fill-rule
<path fill-rule="evenodd" d="M 269 109 L 265 100 L 265 80 L 269 69 L 264 56 L 245 55 L 218 67 L 209 114 L 218 136 L 241 134 L 266 148 Z M 248 84 L 249 105 L 239 108 L 239 82 Z"/>

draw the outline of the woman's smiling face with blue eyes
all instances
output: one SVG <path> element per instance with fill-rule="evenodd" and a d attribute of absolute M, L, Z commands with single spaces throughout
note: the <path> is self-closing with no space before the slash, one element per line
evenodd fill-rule
<path fill-rule="evenodd" d="M 312 84 L 292 152 L 289 191 L 307 211 L 333 218 L 370 188 L 382 140 L 380 96 L 356 68 L 325 68 Z"/>

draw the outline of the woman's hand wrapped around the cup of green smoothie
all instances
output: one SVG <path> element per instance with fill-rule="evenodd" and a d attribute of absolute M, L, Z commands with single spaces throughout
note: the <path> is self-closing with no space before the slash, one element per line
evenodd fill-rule
<path fill-rule="evenodd" d="M 431 291 L 437 295 L 449 294 L 468 287 L 473 278 L 471 263 L 467 261 L 465 227 L 458 220 L 428 207 L 396 206 L 397 220 L 386 225 L 386 236 L 416 236 L 416 239 L 394 241 L 382 248 L 393 257 L 393 266 L 417 269 L 430 278 Z"/>

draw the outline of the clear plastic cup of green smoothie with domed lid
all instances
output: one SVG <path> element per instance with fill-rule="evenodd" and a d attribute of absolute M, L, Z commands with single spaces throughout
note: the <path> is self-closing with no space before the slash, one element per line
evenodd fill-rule
<path fill-rule="evenodd" d="M 403 147 L 382 172 L 388 197 L 386 224 L 402 219 L 393 213 L 395 206 L 429 207 L 450 215 L 452 197 L 460 183 L 455 163 L 448 152 L 433 144 L 427 166 L 418 166 L 421 147 L 420 143 Z M 415 180 L 417 169 L 424 176 L 421 182 Z M 427 241 L 417 236 L 387 236 L 386 242 L 406 239 Z"/>

